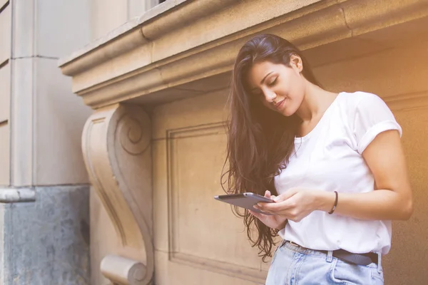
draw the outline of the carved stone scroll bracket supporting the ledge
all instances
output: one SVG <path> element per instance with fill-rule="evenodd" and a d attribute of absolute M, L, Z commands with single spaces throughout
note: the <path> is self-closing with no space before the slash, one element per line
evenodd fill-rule
<path fill-rule="evenodd" d="M 98 109 L 83 128 L 82 148 L 91 184 L 119 240 L 115 255 L 102 261 L 103 275 L 114 284 L 150 284 L 154 271 L 150 118 L 137 105 Z"/>

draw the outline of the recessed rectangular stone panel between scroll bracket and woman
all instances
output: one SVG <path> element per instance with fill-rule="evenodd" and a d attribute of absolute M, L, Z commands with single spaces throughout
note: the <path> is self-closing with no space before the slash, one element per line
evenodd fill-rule
<path fill-rule="evenodd" d="M 214 199 L 224 194 L 220 176 L 225 145 L 223 123 L 168 132 L 171 259 L 263 281 L 265 272 L 243 220 L 229 204 Z"/>

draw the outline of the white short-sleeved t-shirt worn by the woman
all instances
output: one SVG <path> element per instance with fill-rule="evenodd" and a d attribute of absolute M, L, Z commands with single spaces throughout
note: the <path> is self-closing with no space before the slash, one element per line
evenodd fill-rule
<path fill-rule="evenodd" d="M 292 187 L 339 193 L 374 191 L 374 177 L 362 152 L 386 130 L 402 129 L 382 99 L 370 93 L 342 92 L 315 128 L 295 138 L 295 151 L 275 187 L 282 194 Z M 391 221 L 367 221 L 315 211 L 300 222 L 289 221 L 280 237 L 317 250 L 382 252 L 391 247 Z"/>

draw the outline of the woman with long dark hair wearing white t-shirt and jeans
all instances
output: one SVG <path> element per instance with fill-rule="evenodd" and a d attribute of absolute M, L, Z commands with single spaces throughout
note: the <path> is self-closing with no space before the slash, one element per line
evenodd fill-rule
<path fill-rule="evenodd" d="M 266 284 L 383 284 L 391 220 L 412 214 L 402 129 L 387 105 L 323 90 L 302 53 L 269 34 L 240 49 L 229 102 L 228 192 L 275 200 L 256 206 L 267 214 L 242 215 L 263 260 L 283 239 Z"/>

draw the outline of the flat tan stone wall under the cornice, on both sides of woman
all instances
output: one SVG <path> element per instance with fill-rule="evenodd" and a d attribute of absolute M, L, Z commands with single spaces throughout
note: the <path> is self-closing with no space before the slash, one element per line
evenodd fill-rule
<path fill-rule="evenodd" d="M 384 98 L 403 128 L 415 211 L 408 222 L 394 222 L 392 251 L 384 257 L 385 284 L 423 284 L 428 278 L 424 270 L 428 262 L 424 243 L 428 235 L 424 227 L 428 224 L 424 207 L 428 201 L 424 191 L 428 183 L 427 107 L 419 108 L 418 100 L 393 100 L 400 95 L 427 94 L 427 48 L 428 42 L 419 42 L 314 68 L 328 90 L 365 90 Z M 228 90 L 218 90 L 153 111 L 157 284 L 170 284 L 170 278 L 177 284 L 256 284 L 263 278 L 263 271 L 258 271 L 268 268 L 250 248 L 240 219 L 233 217 L 226 204 L 213 200 L 222 192 L 219 179 L 225 134 L 221 123 L 227 115 L 227 94 Z"/>

